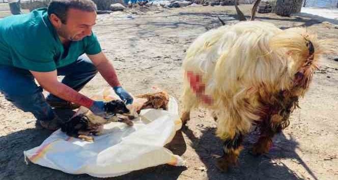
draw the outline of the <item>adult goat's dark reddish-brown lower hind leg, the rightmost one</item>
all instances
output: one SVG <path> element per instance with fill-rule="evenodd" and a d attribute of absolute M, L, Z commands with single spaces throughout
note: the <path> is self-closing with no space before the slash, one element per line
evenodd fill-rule
<path fill-rule="evenodd" d="M 268 153 L 270 150 L 270 147 L 272 146 L 272 138 L 276 133 L 281 132 L 282 128 L 280 125 L 277 125 L 276 127 L 271 126 L 261 126 L 260 131 L 261 135 L 258 139 L 258 141 L 253 144 L 251 149 L 251 154 L 258 156 L 264 153 Z"/>

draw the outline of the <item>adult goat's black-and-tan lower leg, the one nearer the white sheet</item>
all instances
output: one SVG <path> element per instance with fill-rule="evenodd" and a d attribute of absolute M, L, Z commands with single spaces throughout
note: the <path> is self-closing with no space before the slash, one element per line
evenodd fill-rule
<path fill-rule="evenodd" d="M 241 133 L 235 133 L 234 137 L 226 139 L 223 143 L 224 155 L 220 157 L 216 162 L 216 167 L 221 171 L 228 171 L 230 166 L 237 165 L 237 159 L 240 152 L 243 149 L 241 145 L 243 141 L 243 135 Z"/>

